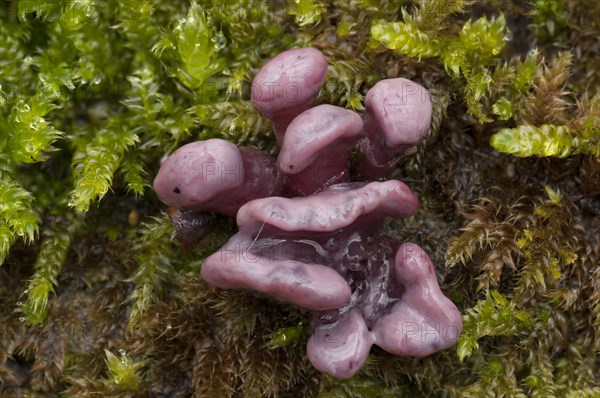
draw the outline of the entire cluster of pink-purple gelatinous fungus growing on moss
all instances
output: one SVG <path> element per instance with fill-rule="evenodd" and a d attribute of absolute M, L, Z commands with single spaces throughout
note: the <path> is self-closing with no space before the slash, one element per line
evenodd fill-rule
<path fill-rule="evenodd" d="M 383 179 L 427 132 L 428 92 L 406 79 L 380 81 L 361 116 L 314 106 L 326 73 L 324 56 L 303 48 L 279 54 L 254 79 L 252 101 L 273 122 L 277 159 L 224 140 L 194 142 L 163 163 L 154 189 L 176 208 L 185 247 L 210 228 L 211 214 L 235 215 L 238 232 L 206 259 L 203 279 L 314 311 L 308 357 L 346 378 L 373 344 L 422 357 L 451 346 L 462 323 L 427 254 L 382 232 L 385 217 L 410 217 L 419 205 L 407 185 Z"/>

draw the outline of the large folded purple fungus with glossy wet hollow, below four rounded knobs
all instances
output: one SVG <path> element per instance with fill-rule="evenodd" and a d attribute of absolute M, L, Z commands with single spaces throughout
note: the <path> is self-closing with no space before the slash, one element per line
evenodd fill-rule
<path fill-rule="evenodd" d="M 358 371 L 372 344 L 428 355 L 455 342 L 460 313 L 418 246 L 377 232 L 384 217 L 417 208 L 410 188 L 395 180 L 257 199 L 240 208 L 239 232 L 205 261 L 202 277 L 317 311 L 308 355 L 333 376 Z M 435 338 L 419 340 L 430 329 Z"/>

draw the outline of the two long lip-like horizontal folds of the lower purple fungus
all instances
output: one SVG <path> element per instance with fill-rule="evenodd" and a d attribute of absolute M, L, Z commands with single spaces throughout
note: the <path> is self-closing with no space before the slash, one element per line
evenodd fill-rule
<path fill-rule="evenodd" d="M 330 189 L 287 199 L 270 197 L 238 211 L 239 232 L 202 265 L 202 278 L 223 288 L 250 288 L 311 310 L 348 304 L 346 280 L 327 264 L 323 244 L 350 225 L 413 214 L 418 201 L 400 181 Z M 360 222 L 363 221 L 363 222 Z"/>

